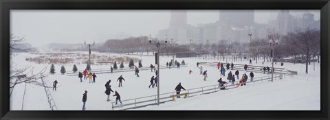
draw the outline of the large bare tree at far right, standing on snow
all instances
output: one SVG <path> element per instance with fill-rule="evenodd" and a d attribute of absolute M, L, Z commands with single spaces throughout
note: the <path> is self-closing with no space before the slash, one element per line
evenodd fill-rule
<path fill-rule="evenodd" d="M 306 58 L 306 73 L 308 74 L 308 62 L 311 58 L 311 53 L 314 47 L 320 45 L 320 31 L 316 29 L 306 30 L 297 29 L 296 32 L 289 32 L 287 36 L 283 37 L 287 42 L 300 50 Z"/>

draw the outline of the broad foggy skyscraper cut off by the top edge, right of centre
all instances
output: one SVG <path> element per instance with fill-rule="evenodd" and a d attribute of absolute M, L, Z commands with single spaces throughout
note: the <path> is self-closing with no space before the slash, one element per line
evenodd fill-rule
<path fill-rule="evenodd" d="M 219 10 L 219 22 L 231 27 L 254 26 L 254 10 Z"/>

